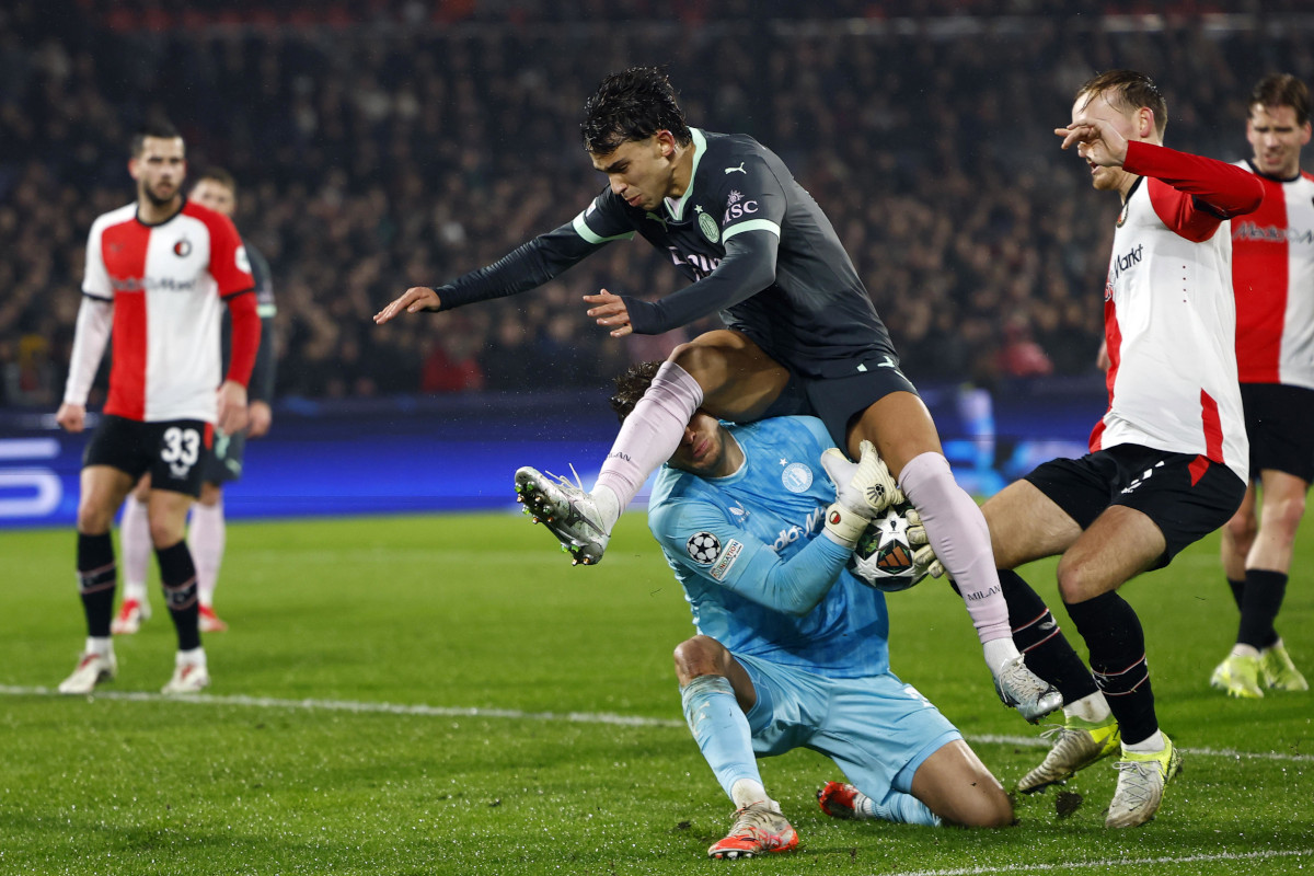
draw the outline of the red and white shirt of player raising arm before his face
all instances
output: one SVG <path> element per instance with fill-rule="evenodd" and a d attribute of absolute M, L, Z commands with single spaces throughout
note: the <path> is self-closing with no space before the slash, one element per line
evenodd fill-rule
<path fill-rule="evenodd" d="M 1118 217 L 1104 290 L 1109 410 L 1091 450 L 1118 444 L 1193 453 L 1244 481 L 1250 445 L 1236 382 L 1231 238 L 1259 206 L 1244 171 L 1152 143 L 1127 144 L 1143 179 Z"/>

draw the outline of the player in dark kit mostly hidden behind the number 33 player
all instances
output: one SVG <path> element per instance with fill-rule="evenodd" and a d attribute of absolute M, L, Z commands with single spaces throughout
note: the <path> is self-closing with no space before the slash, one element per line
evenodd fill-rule
<path fill-rule="evenodd" d="M 215 213 L 233 218 L 237 210 L 237 181 L 222 168 L 210 168 L 192 186 L 191 200 Z M 192 506 L 192 524 L 188 532 L 188 545 L 196 561 L 196 583 L 200 599 L 200 624 L 202 633 L 222 633 L 229 628 L 214 613 L 214 587 L 218 583 L 219 566 L 223 562 L 226 525 L 223 519 L 223 485 L 242 477 L 242 460 L 248 437 L 260 437 L 273 423 L 269 401 L 273 398 L 273 377 L 277 353 L 273 349 L 273 318 L 277 313 L 273 302 L 273 284 L 269 276 L 269 263 L 258 250 L 246 244 L 251 276 L 255 277 L 256 311 L 260 315 L 260 349 L 255 357 L 255 370 L 251 373 L 247 412 L 248 424 L 244 431 L 229 435 L 222 429 L 214 435 L 214 453 L 206 458 L 201 500 Z M 223 322 L 225 340 L 231 336 L 230 320 Z M 225 351 L 229 344 L 225 343 Z M 227 360 L 227 357 L 225 357 Z M 225 361 L 227 368 L 227 361 Z M 143 620 L 151 615 L 146 596 L 146 573 L 150 565 L 151 536 L 147 523 L 146 503 L 150 495 L 150 475 L 142 478 L 137 489 L 124 503 L 124 517 L 120 538 L 124 546 L 124 603 L 110 625 L 116 636 L 135 633 Z"/>

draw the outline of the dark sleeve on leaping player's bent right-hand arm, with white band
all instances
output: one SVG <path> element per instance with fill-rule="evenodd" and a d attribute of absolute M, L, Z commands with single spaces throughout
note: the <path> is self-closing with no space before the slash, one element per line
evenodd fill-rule
<path fill-rule="evenodd" d="M 724 205 L 717 219 L 725 256 L 707 277 L 661 301 L 623 296 L 629 326 L 639 335 L 660 335 L 732 307 L 775 282 L 786 193 L 758 155 L 742 155 L 740 168 L 724 173 L 714 202 Z"/>

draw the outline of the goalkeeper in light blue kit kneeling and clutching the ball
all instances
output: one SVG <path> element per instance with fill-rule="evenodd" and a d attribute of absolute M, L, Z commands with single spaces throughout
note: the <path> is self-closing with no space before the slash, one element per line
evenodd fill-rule
<path fill-rule="evenodd" d="M 616 381 L 611 403 L 622 419 L 658 365 Z M 962 734 L 890 672 L 884 595 L 845 565 L 869 520 L 900 496 L 870 444 L 862 462 L 833 450 L 823 468 L 829 448 L 809 416 L 732 426 L 698 411 L 649 500 L 649 527 L 698 626 L 675 649 L 685 717 L 737 809 L 711 858 L 798 844 L 756 756 L 799 747 L 828 755 L 848 779 L 819 792 L 827 814 L 1013 821 L 1003 787 Z"/>

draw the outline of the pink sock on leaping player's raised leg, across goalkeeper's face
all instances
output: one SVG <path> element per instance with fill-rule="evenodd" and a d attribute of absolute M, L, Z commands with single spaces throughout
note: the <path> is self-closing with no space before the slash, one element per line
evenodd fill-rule
<path fill-rule="evenodd" d="M 593 487 L 594 493 L 606 487 L 616 496 L 618 517 L 648 475 L 679 447 L 685 427 L 702 403 L 703 387 L 698 381 L 675 362 L 662 362 L 652 386 L 620 426 Z M 615 519 L 606 523 L 610 529 Z"/>

